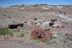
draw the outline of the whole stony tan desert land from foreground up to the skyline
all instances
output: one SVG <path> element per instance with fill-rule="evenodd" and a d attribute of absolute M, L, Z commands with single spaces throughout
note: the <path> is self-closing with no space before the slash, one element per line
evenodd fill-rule
<path fill-rule="evenodd" d="M 0 8 L 0 48 L 72 48 L 72 6 Z"/>

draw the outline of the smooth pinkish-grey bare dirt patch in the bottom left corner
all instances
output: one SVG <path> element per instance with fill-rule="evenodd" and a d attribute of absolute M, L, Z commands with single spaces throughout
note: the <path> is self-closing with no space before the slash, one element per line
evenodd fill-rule
<path fill-rule="evenodd" d="M 0 41 L 1 48 L 37 48 L 35 45 L 26 42 L 2 40 Z"/>

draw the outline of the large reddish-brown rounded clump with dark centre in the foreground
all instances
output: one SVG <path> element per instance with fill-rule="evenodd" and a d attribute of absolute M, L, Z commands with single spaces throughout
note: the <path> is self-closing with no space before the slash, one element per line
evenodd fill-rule
<path fill-rule="evenodd" d="M 47 32 L 47 31 L 44 31 L 43 29 L 35 28 L 31 32 L 31 37 L 33 39 L 39 39 L 41 41 L 47 41 L 47 40 L 52 39 L 53 34 L 52 34 L 52 32 L 49 32 L 49 31 Z"/>

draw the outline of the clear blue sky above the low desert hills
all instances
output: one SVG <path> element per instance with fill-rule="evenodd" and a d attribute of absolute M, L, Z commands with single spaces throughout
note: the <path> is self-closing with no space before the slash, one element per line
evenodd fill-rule
<path fill-rule="evenodd" d="M 72 0 L 0 0 L 0 7 L 19 4 L 72 5 Z"/>

